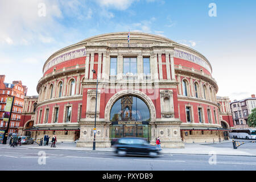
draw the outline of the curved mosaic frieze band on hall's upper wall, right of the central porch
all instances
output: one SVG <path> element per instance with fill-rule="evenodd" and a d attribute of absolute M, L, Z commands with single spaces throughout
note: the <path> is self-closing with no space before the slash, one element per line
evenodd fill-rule
<path fill-rule="evenodd" d="M 211 73 L 208 63 L 206 63 L 204 60 L 200 59 L 197 56 L 194 56 L 194 55 L 191 55 L 190 53 L 179 51 L 179 50 L 174 50 L 174 56 L 180 59 L 189 60 L 196 64 L 199 64 L 202 67 L 206 68 Z"/>

